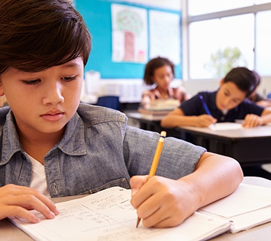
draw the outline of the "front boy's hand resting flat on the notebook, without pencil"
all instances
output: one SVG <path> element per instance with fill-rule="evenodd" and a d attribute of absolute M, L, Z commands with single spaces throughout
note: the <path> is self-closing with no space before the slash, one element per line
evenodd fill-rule
<path fill-rule="evenodd" d="M 54 202 L 34 188 L 13 184 L 0 188 L 0 220 L 16 216 L 29 222 L 40 222 L 40 219 L 29 211 L 33 209 L 49 219 L 59 213 Z"/>

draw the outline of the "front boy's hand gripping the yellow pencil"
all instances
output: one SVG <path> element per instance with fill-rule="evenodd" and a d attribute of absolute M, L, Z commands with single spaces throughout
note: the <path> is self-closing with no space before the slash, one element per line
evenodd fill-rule
<path fill-rule="evenodd" d="M 176 226 L 197 210 L 197 197 L 185 181 L 158 176 L 147 181 L 147 176 L 134 176 L 130 184 L 131 205 L 146 227 Z"/>

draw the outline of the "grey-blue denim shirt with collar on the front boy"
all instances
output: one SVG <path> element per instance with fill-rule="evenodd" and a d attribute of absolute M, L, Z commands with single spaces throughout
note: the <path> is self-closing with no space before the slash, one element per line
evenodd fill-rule
<path fill-rule="evenodd" d="M 147 175 L 159 134 L 126 125 L 113 109 L 80 104 L 59 143 L 44 156 L 51 197 L 96 193 L 112 186 L 130 188 L 133 175 Z M 0 108 L 0 186 L 30 186 L 32 163 L 19 143 L 13 112 Z M 206 150 L 165 139 L 156 175 L 179 179 L 195 170 Z"/>

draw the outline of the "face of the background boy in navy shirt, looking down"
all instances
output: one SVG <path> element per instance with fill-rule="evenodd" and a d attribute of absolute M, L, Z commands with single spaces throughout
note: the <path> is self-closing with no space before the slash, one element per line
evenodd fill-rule
<path fill-rule="evenodd" d="M 215 97 L 215 104 L 218 109 L 229 110 L 235 108 L 246 98 L 246 93 L 238 89 L 233 82 L 226 82 L 222 80 L 220 89 L 217 91 Z"/>

